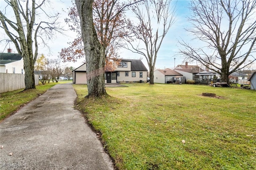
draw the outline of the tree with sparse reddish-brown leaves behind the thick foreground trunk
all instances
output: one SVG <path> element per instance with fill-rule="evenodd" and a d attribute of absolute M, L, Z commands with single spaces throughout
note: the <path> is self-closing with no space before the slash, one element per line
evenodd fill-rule
<path fill-rule="evenodd" d="M 126 19 L 124 9 L 131 4 L 121 4 L 118 0 L 95 0 L 93 3 L 93 20 L 98 35 L 106 55 L 106 69 L 112 70 L 112 61 L 118 57 L 118 49 L 122 47 L 121 37 L 127 34 Z M 69 9 L 69 18 L 66 18 L 71 30 L 78 33 L 78 37 L 69 43 L 69 47 L 63 48 L 60 57 L 64 62 L 76 61 L 84 57 L 84 46 L 81 38 L 81 27 L 77 8 L 73 6 Z"/>

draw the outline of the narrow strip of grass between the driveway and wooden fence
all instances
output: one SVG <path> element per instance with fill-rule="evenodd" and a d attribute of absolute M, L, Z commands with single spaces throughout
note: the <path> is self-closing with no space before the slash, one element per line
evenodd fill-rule
<path fill-rule="evenodd" d="M 67 82 L 58 82 L 67 83 Z M 0 121 L 8 117 L 12 113 L 15 113 L 20 107 L 28 104 L 41 94 L 44 94 L 46 90 L 54 86 L 55 83 L 48 82 L 44 85 L 40 82 L 40 85 L 36 86 L 36 89 L 26 90 L 14 90 L 11 92 L 5 92 L 0 94 Z"/>

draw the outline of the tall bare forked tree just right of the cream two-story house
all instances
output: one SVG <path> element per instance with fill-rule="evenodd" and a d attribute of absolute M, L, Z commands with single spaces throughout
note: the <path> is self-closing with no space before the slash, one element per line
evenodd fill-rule
<path fill-rule="evenodd" d="M 154 67 L 162 41 L 175 22 L 175 6 L 170 5 L 171 0 L 146 0 L 132 7 L 138 24 L 135 21 L 131 25 L 135 41 L 126 39 L 127 49 L 146 58 L 150 84 L 154 84 Z M 138 44 L 134 45 L 136 41 Z"/>

